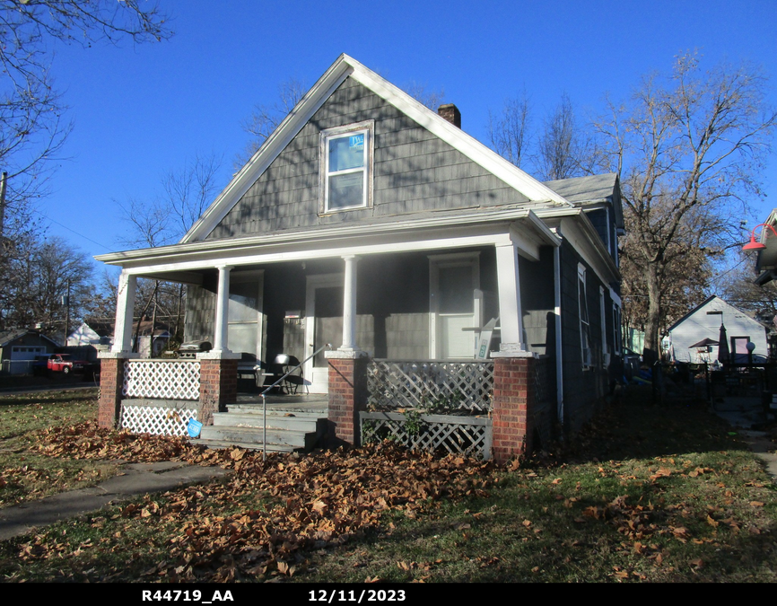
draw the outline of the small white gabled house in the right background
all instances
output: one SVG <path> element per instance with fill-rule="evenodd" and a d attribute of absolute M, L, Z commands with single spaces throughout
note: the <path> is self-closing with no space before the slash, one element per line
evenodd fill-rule
<path fill-rule="evenodd" d="M 714 294 L 669 328 L 672 359 L 694 364 L 717 360 L 721 322 L 726 327 L 729 352 L 736 362 L 747 362 L 748 342 L 755 345 L 753 361 L 766 360 L 768 347 L 764 325 Z"/>

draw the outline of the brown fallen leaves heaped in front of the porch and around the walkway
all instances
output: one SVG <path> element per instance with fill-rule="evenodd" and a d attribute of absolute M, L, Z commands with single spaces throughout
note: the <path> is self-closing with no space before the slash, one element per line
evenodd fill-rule
<path fill-rule="evenodd" d="M 389 510 L 408 517 L 442 498 L 485 496 L 491 463 L 460 456 L 435 458 L 393 444 L 310 455 L 274 455 L 240 448 L 204 450 L 183 440 L 109 432 L 82 424 L 41 433 L 41 452 L 65 456 L 159 461 L 162 456 L 199 464 L 220 464 L 235 472 L 224 483 L 186 487 L 163 498 L 125 505 L 117 518 L 176 527 L 163 551 L 167 557 L 144 578 L 228 581 L 293 575 L 306 553 L 335 547 L 378 527 Z M 249 495 L 264 505 L 233 511 Z M 61 547 L 61 546 L 60 546 Z M 127 549 L 116 541 L 79 549 Z M 61 558 L 57 541 L 45 535 L 21 546 L 19 557 Z M 127 562 L 129 564 L 130 562 Z M 121 575 L 116 570 L 115 575 Z M 103 577 L 110 578 L 110 575 Z"/>

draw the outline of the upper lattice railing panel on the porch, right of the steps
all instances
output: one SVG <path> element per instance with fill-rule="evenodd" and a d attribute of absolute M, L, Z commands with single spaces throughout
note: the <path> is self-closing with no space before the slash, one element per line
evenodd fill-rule
<path fill-rule="evenodd" d="M 369 410 L 484 413 L 492 409 L 493 362 L 372 360 L 367 390 Z"/>

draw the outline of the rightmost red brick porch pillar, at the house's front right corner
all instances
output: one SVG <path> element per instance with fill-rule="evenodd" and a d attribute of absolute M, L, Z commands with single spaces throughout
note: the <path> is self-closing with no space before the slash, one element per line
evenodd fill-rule
<path fill-rule="evenodd" d="M 534 356 L 493 354 L 492 452 L 497 462 L 530 452 L 529 412 L 534 406 Z"/>

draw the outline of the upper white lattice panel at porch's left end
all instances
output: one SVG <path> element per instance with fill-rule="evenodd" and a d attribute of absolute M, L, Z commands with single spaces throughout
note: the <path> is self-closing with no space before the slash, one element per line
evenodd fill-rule
<path fill-rule="evenodd" d="M 124 395 L 152 400 L 199 400 L 200 364 L 196 360 L 127 360 Z"/>

